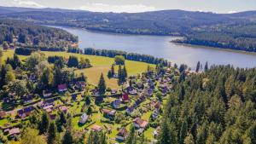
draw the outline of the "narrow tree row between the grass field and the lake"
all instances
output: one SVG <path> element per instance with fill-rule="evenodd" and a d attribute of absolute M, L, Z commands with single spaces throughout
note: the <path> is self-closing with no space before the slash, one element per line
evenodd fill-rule
<path fill-rule="evenodd" d="M 136 53 L 126 53 L 125 51 L 119 50 L 108 50 L 108 49 L 84 49 L 85 55 L 100 55 L 107 57 L 115 57 L 116 55 L 123 55 L 125 60 L 135 60 L 135 61 L 143 61 L 150 64 L 163 64 L 164 66 L 168 66 L 169 62 L 164 59 L 155 58 L 152 55 L 140 55 Z"/>

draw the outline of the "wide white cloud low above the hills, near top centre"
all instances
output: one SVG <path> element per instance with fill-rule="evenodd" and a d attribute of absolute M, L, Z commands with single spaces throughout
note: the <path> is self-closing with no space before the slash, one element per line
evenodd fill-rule
<path fill-rule="evenodd" d="M 146 6 L 143 4 L 128 4 L 128 5 L 110 5 L 105 3 L 86 3 L 83 6 L 75 9 L 89 10 L 93 12 L 114 12 L 114 13 L 137 13 L 145 11 L 157 10 L 152 6 Z"/>

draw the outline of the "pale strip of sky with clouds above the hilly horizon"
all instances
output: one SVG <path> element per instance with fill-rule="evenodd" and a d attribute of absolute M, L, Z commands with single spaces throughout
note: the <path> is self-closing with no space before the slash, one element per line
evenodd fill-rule
<path fill-rule="evenodd" d="M 0 6 L 82 9 L 116 13 L 163 9 L 235 13 L 256 10 L 256 0 L 0 0 Z"/>

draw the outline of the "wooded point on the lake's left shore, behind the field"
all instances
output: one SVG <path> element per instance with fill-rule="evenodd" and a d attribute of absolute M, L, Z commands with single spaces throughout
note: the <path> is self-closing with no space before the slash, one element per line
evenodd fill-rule
<path fill-rule="evenodd" d="M 37 26 L 20 20 L 0 20 L 0 44 L 15 43 L 20 46 L 33 46 L 39 49 L 57 50 L 78 42 L 78 37 L 61 29 Z"/>

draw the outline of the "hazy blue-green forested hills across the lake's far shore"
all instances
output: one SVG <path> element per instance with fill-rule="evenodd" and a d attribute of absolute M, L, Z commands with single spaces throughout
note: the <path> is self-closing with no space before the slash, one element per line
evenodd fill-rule
<path fill-rule="evenodd" d="M 1 10 L 2 9 L 2 10 Z M 6 11 L 6 10 L 9 10 Z M 224 49 L 256 51 L 256 12 L 214 14 L 183 10 L 145 13 L 94 13 L 67 9 L 0 8 L 2 18 L 30 20 L 39 24 L 75 26 L 99 32 L 175 35 L 176 43 Z"/>

